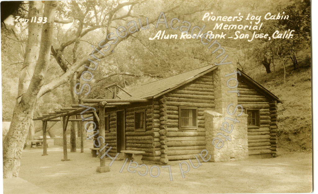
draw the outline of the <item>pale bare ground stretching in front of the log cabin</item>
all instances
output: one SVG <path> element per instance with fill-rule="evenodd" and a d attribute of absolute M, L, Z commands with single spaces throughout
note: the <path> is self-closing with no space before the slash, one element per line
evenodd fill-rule
<path fill-rule="evenodd" d="M 115 161 L 111 171 L 97 173 L 99 158 L 84 153 L 70 153 L 70 161 L 62 162 L 63 148 L 53 146 L 49 140 L 48 156 L 41 156 L 42 149 L 25 149 L 21 159 L 19 177 L 50 193 L 294 193 L 312 191 L 312 155 L 289 152 L 276 158 L 249 159 L 239 162 L 202 163 L 191 167 L 182 178 L 178 164 L 160 168 L 156 178 L 149 175 L 155 164 L 147 163 L 148 173 L 127 171 L 128 163 L 120 173 L 124 161 Z M 107 159 L 108 165 L 111 160 Z M 134 164 L 132 164 L 134 165 Z M 194 163 L 196 166 L 197 163 Z M 186 170 L 186 165 L 182 165 Z M 145 173 L 145 167 L 139 170 Z M 152 174 L 157 174 L 153 168 Z"/>

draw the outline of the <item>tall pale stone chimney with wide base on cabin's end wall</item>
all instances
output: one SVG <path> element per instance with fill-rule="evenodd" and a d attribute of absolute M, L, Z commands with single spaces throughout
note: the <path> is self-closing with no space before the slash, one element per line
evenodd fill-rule
<path fill-rule="evenodd" d="M 211 47 L 211 52 L 216 46 Z M 227 162 L 248 158 L 247 114 L 238 105 L 236 49 L 224 47 L 214 55 L 219 55 L 216 63 L 222 64 L 213 72 L 214 110 L 204 111 L 206 149 L 211 154 L 211 162 Z M 234 110 L 236 110 L 234 112 Z"/>

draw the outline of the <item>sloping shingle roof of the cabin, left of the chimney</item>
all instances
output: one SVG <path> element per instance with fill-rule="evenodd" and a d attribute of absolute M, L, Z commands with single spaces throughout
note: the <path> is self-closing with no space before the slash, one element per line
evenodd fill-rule
<path fill-rule="evenodd" d="M 143 84 L 140 87 L 129 91 L 129 93 L 132 95 L 131 97 L 128 94 L 124 94 L 124 95 L 121 95 L 121 98 L 140 99 L 140 98 L 158 97 L 158 95 L 160 96 L 166 92 L 171 91 L 172 89 L 175 89 L 186 83 L 189 83 L 190 81 L 195 80 L 201 75 L 211 72 L 217 67 L 218 66 L 211 64 L 211 65 L 199 67 L 187 72 L 172 75 L 172 76 L 169 76 L 157 81 L 153 81 L 147 84 Z"/>

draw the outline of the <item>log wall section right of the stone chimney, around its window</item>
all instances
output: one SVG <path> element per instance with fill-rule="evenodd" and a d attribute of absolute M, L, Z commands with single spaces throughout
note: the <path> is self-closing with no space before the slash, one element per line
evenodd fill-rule
<path fill-rule="evenodd" d="M 253 86 L 247 84 L 244 79 L 239 80 L 239 94 L 238 104 L 243 106 L 244 112 L 246 108 L 259 109 L 259 128 L 248 128 L 248 154 L 259 155 L 259 154 L 271 154 L 271 114 L 269 99 L 263 94 L 256 91 Z M 246 112 L 245 112 L 246 113 Z M 275 133 L 276 135 L 276 133 Z"/>

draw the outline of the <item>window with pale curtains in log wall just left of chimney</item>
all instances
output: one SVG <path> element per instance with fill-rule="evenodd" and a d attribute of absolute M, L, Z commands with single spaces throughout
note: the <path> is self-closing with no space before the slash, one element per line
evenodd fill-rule
<path fill-rule="evenodd" d="M 179 107 L 179 123 L 180 129 L 196 129 L 197 108 Z"/>

